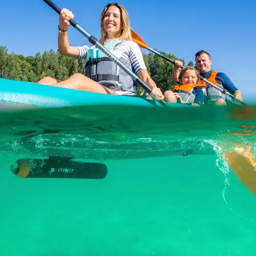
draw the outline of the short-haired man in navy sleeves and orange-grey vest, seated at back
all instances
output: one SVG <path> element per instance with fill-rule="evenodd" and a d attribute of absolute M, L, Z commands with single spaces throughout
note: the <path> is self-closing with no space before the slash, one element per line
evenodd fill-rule
<path fill-rule="evenodd" d="M 234 95 L 234 101 L 241 102 L 242 95 L 238 88 L 233 84 L 230 78 L 221 72 L 213 71 L 211 69 L 211 57 L 206 51 L 199 51 L 196 53 L 196 66 L 200 72 L 200 75 L 207 79 L 209 82 L 219 84 L 222 88 L 226 89 L 229 93 Z M 181 67 L 183 66 L 182 61 L 175 60 L 175 66 L 173 69 L 173 81 L 178 82 Z M 205 103 L 214 103 L 217 105 L 226 105 L 226 95 L 221 93 L 218 89 L 210 87 L 209 84 L 201 81 L 200 83 L 206 84 L 207 89 L 205 92 Z"/>

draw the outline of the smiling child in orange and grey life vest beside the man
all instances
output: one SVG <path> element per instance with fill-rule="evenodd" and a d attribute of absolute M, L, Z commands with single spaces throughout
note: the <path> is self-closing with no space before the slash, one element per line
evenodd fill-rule
<path fill-rule="evenodd" d="M 200 76 L 193 67 L 185 67 L 179 74 L 179 85 L 173 91 L 164 93 L 169 102 L 182 104 L 202 105 L 204 102 L 204 88 L 199 84 Z"/>

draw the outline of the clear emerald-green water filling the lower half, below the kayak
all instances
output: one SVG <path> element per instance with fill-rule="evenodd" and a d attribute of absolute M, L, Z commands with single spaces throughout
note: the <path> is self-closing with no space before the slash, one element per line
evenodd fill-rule
<path fill-rule="evenodd" d="M 254 255 L 256 197 L 223 157 L 237 145 L 255 154 L 254 113 L 128 106 L 0 113 L 1 255 Z M 10 171 L 19 158 L 54 154 L 102 162 L 108 175 L 20 179 Z"/>

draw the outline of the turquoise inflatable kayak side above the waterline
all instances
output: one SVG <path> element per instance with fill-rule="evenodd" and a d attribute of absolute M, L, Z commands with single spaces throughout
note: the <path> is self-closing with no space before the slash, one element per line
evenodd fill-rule
<path fill-rule="evenodd" d="M 43 108 L 73 105 L 130 105 L 162 106 L 155 100 L 132 96 L 106 95 L 78 91 L 67 88 L 43 86 L 37 83 L 0 79 L 0 101 L 15 102 Z M 191 107 L 184 104 L 169 103 L 172 107 Z"/>

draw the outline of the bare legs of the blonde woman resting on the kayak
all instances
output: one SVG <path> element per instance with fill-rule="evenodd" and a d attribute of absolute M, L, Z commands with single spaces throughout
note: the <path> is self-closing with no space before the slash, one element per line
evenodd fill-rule
<path fill-rule="evenodd" d="M 54 81 L 55 80 L 55 81 Z M 82 74 L 74 74 L 69 79 L 58 82 L 56 79 L 53 78 L 47 78 L 44 80 L 40 80 L 42 82 L 47 82 L 47 85 L 49 86 L 55 86 L 55 87 L 62 87 L 62 88 L 69 88 L 69 89 L 75 89 L 80 91 L 87 91 L 87 92 L 93 92 L 93 93 L 102 93 L 102 94 L 115 94 L 114 91 L 111 89 L 108 89 L 104 86 L 101 86 L 101 84 L 93 81 L 92 79 L 82 75 Z M 40 81 L 38 83 L 40 83 Z M 54 82 L 54 83 L 52 83 Z"/>

